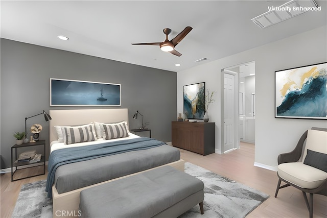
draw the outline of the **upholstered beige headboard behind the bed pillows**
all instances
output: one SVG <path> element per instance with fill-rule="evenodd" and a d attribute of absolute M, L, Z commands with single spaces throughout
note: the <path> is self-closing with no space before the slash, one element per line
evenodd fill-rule
<path fill-rule="evenodd" d="M 89 124 L 92 121 L 114 123 L 125 120 L 128 122 L 127 108 L 50 110 L 49 114 L 52 118 L 49 121 L 50 142 L 57 140 L 57 133 L 54 126 L 76 126 Z"/>

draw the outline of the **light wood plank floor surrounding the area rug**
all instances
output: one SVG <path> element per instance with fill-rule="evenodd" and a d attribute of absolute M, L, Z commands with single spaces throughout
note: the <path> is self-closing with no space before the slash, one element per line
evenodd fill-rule
<path fill-rule="evenodd" d="M 209 169 L 255 189 L 261 190 L 270 198 L 253 210 L 247 217 L 309 217 L 302 193 L 293 187 L 279 190 L 274 198 L 277 175 L 254 164 L 254 145 L 241 143 L 241 149 L 219 155 L 202 156 L 180 150 L 181 158 L 187 162 Z M 37 167 L 33 171 L 38 171 Z M 47 174 L 47 173 L 46 173 Z M 1 176 L 1 213 L 0 217 L 11 217 L 22 184 L 46 179 L 46 174 L 11 182 L 10 174 Z M 314 195 L 314 217 L 327 217 L 327 197 Z"/>

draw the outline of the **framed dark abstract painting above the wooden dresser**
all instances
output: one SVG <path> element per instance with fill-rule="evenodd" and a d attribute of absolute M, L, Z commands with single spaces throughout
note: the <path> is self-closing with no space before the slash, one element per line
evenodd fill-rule
<path fill-rule="evenodd" d="M 205 82 L 185 85 L 183 110 L 188 119 L 203 119 L 205 103 Z"/>

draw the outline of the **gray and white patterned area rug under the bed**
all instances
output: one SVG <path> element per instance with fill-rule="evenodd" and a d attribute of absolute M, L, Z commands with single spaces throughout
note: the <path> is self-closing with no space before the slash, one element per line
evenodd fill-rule
<path fill-rule="evenodd" d="M 204 183 L 204 214 L 199 205 L 180 215 L 188 217 L 245 217 L 269 198 L 265 193 L 219 176 L 192 163 L 185 163 L 185 172 Z M 22 185 L 12 217 L 53 217 L 52 200 L 46 197 L 46 180 Z"/>

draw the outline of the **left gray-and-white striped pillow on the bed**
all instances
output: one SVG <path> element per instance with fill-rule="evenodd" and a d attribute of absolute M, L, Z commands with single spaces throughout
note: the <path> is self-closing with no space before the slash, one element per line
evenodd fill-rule
<path fill-rule="evenodd" d="M 94 125 L 84 125 L 79 127 L 61 127 L 63 133 L 63 142 L 65 144 L 73 144 L 85 141 L 94 141 Z"/>

